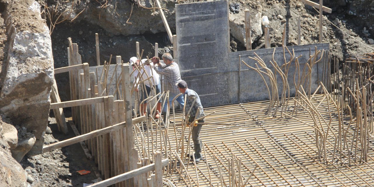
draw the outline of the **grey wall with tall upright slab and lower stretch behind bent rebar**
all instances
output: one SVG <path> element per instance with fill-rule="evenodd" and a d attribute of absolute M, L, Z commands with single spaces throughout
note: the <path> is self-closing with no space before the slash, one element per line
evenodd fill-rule
<path fill-rule="evenodd" d="M 283 47 L 229 53 L 228 1 L 178 4 L 175 10 L 178 46 L 178 60 L 175 61 L 179 64 L 182 79 L 190 89 L 199 94 L 203 106 L 269 99 L 264 80 L 257 71 L 249 70 L 245 64 L 240 63 L 239 77 L 239 56 L 254 67 L 255 61 L 248 56 L 254 57 L 254 53 L 257 53 L 267 67 L 273 67 L 269 61 L 272 60 L 275 49 L 274 59 L 281 66 L 284 64 Z M 303 68 L 310 49 L 313 54 L 315 47 L 318 50 L 329 50 L 328 43 L 289 46 L 288 49 L 294 50 L 296 57 L 301 55 L 299 63 Z M 287 53 L 286 59 L 289 58 Z M 323 65 L 323 61 L 319 62 L 312 69 L 313 92 L 318 87 L 318 82 L 322 81 Z M 288 72 L 291 96 L 295 94 L 294 72 L 293 62 Z M 283 84 L 279 75 L 277 80 L 281 96 Z M 266 81 L 270 86 L 269 80 Z"/>

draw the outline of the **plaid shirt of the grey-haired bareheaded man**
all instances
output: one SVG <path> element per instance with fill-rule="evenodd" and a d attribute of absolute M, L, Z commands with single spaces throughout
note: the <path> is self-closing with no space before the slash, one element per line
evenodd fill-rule
<path fill-rule="evenodd" d="M 179 89 L 177 84 L 181 81 L 181 74 L 179 72 L 179 66 L 177 63 L 172 62 L 169 65 L 159 63 L 158 66 L 154 67 L 154 70 L 160 74 L 165 76 L 165 80 L 163 82 L 163 88 L 165 91 L 170 91 L 174 94 L 179 94 Z"/>

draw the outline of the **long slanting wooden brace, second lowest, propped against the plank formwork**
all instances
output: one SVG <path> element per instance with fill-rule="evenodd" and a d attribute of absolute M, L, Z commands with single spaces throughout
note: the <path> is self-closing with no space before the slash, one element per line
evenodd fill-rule
<path fill-rule="evenodd" d="M 145 121 L 145 116 L 136 117 L 136 118 L 132 119 L 132 123 L 140 123 L 140 122 L 144 122 L 144 121 Z M 121 122 L 121 123 L 117 123 L 116 125 L 108 126 L 108 127 L 102 128 L 102 129 L 98 129 L 96 131 L 89 132 L 87 134 L 83 134 L 83 135 L 80 135 L 80 136 L 77 136 L 77 137 L 69 138 L 67 140 L 63 140 L 63 141 L 56 142 L 56 143 L 53 143 L 53 144 L 49 144 L 49 145 L 46 145 L 45 147 L 43 147 L 43 153 L 46 153 L 46 152 L 49 152 L 49 151 L 52 151 L 52 150 L 55 150 L 55 149 L 58 149 L 58 148 L 61 148 L 61 147 L 65 147 L 65 146 L 68 146 L 68 145 L 71 145 L 71 144 L 75 144 L 75 143 L 78 143 L 80 141 L 85 141 L 85 140 L 88 140 L 89 138 L 93 138 L 93 137 L 97 137 L 97 136 L 100 136 L 100 135 L 103 135 L 103 134 L 107 134 L 109 132 L 113 132 L 113 131 L 119 130 L 121 128 L 124 128 L 125 126 L 126 126 L 126 122 Z"/>

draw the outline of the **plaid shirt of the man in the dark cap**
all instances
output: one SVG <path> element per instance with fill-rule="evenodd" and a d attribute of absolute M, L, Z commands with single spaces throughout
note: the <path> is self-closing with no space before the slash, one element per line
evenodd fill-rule
<path fill-rule="evenodd" d="M 199 114 L 197 114 L 196 119 L 204 116 L 205 114 L 204 114 L 204 110 L 203 110 L 203 105 L 201 105 L 199 95 L 197 95 L 197 93 L 195 91 L 193 91 L 191 89 L 188 89 L 188 88 L 186 89 L 186 92 L 184 92 L 184 94 L 186 95 L 186 101 L 184 102 L 184 104 L 186 105 L 186 108 L 184 109 L 186 111 L 186 115 L 187 115 L 188 111 L 190 110 L 190 108 L 192 107 L 192 109 L 190 111 L 190 116 L 191 116 L 192 120 L 194 120 L 194 118 L 195 118 L 197 108 L 200 108 L 200 111 L 199 111 Z M 195 98 L 196 98 L 196 101 L 192 105 L 192 102 L 195 100 Z"/>

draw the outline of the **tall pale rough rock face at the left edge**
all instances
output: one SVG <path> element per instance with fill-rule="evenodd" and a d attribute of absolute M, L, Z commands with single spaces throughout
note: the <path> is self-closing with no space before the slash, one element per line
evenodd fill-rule
<path fill-rule="evenodd" d="M 12 0 L 4 13 L 9 51 L 1 80 L 0 112 L 36 137 L 30 154 L 42 152 L 53 85 L 49 29 L 34 0 Z"/>

